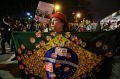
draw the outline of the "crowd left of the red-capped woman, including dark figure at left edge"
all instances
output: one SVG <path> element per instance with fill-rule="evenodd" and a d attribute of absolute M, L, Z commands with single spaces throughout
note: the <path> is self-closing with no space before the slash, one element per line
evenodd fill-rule
<path fill-rule="evenodd" d="M 47 29 L 48 28 L 48 29 Z M 11 51 L 14 50 L 12 43 L 12 32 L 21 31 L 21 32 L 35 32 L 41 30 L 42 32 L 48 32 L 50 30 L 48 23 L 28 21 L 25 19 L 16 20 L 11 17 L 4 17 L 0 22 L 0 41 L 2 54 L 6 53 L 5 43 L 7 42 Z"/>

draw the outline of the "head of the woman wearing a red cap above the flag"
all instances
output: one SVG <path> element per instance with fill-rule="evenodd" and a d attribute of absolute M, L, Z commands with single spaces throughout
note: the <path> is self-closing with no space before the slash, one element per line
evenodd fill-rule
<path fill-rule="evenodd" d="M 50 15 L 50 18 L 51 18 L 50 25 L 53 28 L 53 31 L 57 33 L 69 31 L 67 25 L 67 19 L 63 13 L 56 12 Z"/>

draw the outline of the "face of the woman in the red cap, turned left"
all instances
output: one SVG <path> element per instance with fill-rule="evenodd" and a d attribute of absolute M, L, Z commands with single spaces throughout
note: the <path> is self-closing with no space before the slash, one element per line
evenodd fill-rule
<path fill-rule="evenodd" d="M 63 32 L 63 26 L 64 26 L 64 23 L 61 22 L 59 19 L 57 18 L 52 18 L 51 19 L 51 27 L 54 28 L 54 31 L 55 32 Z"/>

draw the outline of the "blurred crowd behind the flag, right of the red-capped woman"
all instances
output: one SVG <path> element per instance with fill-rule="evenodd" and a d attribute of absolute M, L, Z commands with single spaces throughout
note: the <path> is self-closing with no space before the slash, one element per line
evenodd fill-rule
<path fill-rule="evenodd" d="M 73 32 L 100 32 L 100 31 L 110 31 L 115 30 L 120 27 L 120 22 L 110 21 L 110 22 L 94 22 L 90 20 L 81 21 L 81 23 L 70 23 L 70 29 Z"/>

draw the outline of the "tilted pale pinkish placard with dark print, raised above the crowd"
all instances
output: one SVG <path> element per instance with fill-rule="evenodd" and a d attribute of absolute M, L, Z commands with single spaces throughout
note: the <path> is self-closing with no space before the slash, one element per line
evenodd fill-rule
<path fill-rule="evenodd" d="M 52 14 L 54 5 L 46 2 L 39 1 L 35 13 L 35 20 L 39 22 L 48 22 L 49 15 Z"/>

